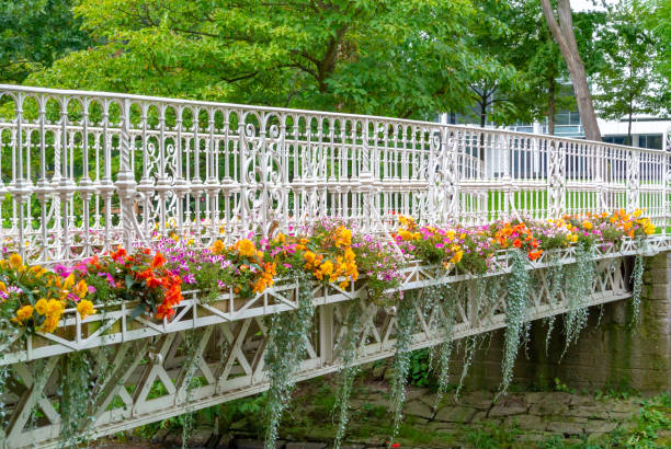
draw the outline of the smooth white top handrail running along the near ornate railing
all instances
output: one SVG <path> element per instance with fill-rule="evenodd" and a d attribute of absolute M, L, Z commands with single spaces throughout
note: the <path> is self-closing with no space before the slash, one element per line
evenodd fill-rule
<path fill-rule="evenodd" d="M 503 128 L 482 128 L 475 125 L 460 125 L 460 124 L 441 124 L 437 122 L 428 122 L 428 120 L 416 120 L 409 118 L 398 118 L 390 116 L 377 116 L 377 115 L 365 115 L 365 114 L 352 114 L 352 113 L 338 113 L 332 111 L 320 111 L 320 110 L 302 110 L 302 108 L 292 108 L 292 107 L 277 107 L 277 106 L 261 106 L 261 105 L 248 105 L 248 104 L 239 104 L 239 103 L 226 103 L 226 102 L 211 102 L 204 100 L 191 100 L 191 99 L 172 99 L 167 96 L 153 96 L 153 95 L 139 95 L 139 94 L 130 94 L 130 93 L 118 93 L 118 92 L 104 92 L 104 91 L 86 91 L 86 90 L 76 90 L 76 89 L 50 89 L 50 88 L 39 88 L 39 87 L 30 87 L 30 85 L 19 85 L 19 84 L 2 84 L 0 83 L 0 91 L 18 91 L 25 93 L 43 93 L 43 94 L 55 94 L 55 95 L 82 95 L 82 96 L 91 96 L 91 97 L 103 97 L 103 99 L 118 99 L 118 100 L 136 100 L 151 103 L 169 103 L 173 105 L 185 105 L 185 106 L 206 106 L 206 107 L 225 107 L 231 110 L 251 110 L 251 111 L 260 111 L 260 112 L 276 112 L 276 113 L 293 113 L 293 114 L 310 114 L 310 115 L 321 115 L 325 117 L 332 118 L 351 118 L 351 119 L 365 119 L 365 120 L 385 120 L 393 122 L 397 124 L 405 125 L 414 125 L 422 127 L 439 127 L 439 128 L 454 128 L 454 129 L 465 129 L 474 133 L 494 133 L 494 134 L 503 134 L 509 136 L 520 136 L 523 138 L 547 138 L 553 140 L 560 140 L 565 142 L 573 142 L 573 143 L 591 143 L 594 146 L 602 146 L 622 150 L 634 150 L 639 152 L 649 152 L 649 153 L 660 153 L 666 152 L 663 149 L 651 149 L 651 148 L 639 148 L 632 147 L 618 143 L 609 143 L 598 140 L 588 140 L 588 139 L 577 139 L 564 136 L 555 136 L 555 135 L 538 135 L 533 133 L 522 133 L 514 131 L 510 129 Z"/>

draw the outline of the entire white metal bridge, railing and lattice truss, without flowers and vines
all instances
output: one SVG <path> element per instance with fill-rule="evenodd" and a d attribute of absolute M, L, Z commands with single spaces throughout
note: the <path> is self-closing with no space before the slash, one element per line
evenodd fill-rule
<path fill-rule="evenodd" d="M 504 217 L 645 208 L 661 231 L 641 249 L 598 251 L 585 303 L 629 298 L 627 257 L 671 250 L 671 156 L 663 151 L 427 122 L 281 110 L 100 92 L 0 85 L 0 214 L 3 244 L 36 263 L 76 261 L 159 234 L 194 245 L 268 235 L 319 218 L 367 232 L 391 230 L 394 214 L 420 222 L 482 225 Z M 553 263 L 576 262 L 575 250 Z M 557 262 L 558 261 L 558 262 Z M 537 289 L 527 320 L 565 313 L 550 295 L 548 252 L 530 262 Z M 488 276 L 510 273 L 505 253 Z M 505 325 L 505 291 L 482 302 L 470 275 L 411 265 L 400 289 L 451 284 L 457 303 L 450 337 Z M 56 446 L 59 384 L 68 354 L 91 349 L 106 372 L 89 404 L 90 436 L 114 434 L 269 387 L 263 316 L 297 308 L 292 279 L 249 300 L 184 293 L 171 321 L 132 319 L 133 304 L 107 304 L 84 323 L 73 310 L 54 334 L 2 329 L 4 447 Z M 391 356 L 396 316 L 346 289 L 315 284 L 314 331 L 298 379 L 338 370 L 346 311 L 361 301 L 354 362 Z M 445 338 L 418 306 L 412 347 Z M 12 327 L 13 329 L 13 327 Z M 190 333 L 191 330 L 195 330 Z M 184 364 L 185 335 L 195 335 Z M 197 378 L 195 388 L 190 387 Z"/>

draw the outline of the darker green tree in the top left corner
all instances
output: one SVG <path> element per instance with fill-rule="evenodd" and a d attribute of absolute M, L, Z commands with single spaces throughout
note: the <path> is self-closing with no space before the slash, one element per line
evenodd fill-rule
<path fill-rule="evenodd" d="M 71 7 L 72 0 L 0 0 L 0 82 L 21 83 L 91 44 Z"/>

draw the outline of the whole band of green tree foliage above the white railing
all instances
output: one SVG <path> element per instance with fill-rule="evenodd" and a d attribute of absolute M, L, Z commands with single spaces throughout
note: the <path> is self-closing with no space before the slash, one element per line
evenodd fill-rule
<path fill-rule="evenodd" d="M 668 87 L 671 7 L 666 0 L 625 3 L 633 1 L 646 11 L 636 26 L 656 43 L 656 51 L 640 54 L 642 66 Z M 496 125 L 549 116 L 550 133 L 555 112 L 576 104 L 561 94 L 569 70 L 539 0 L 3 5 L 4 82 L 408 118 L 475 112 L 476 122 Z M 572 12 L 571 19 L 592 87 L 622 96 L 617 83 L 626 77 L 613 55 L 626 27 L 603 12 Z"/>

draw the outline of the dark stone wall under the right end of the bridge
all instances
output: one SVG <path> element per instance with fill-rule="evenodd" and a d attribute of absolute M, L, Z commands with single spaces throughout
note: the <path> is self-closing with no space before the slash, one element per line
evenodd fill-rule
<path fill-rule="evenodd" d="M 632 326 L 630 301 L 590 309 L 587 329 L 564 359 L 562 320 L 558 318 L 545 350 L 547 327 L 534 322 L 526 354 L 521 349 L 514 382 L 524 388 L 551 388 L 555 379 L 576 389 L 635 389 L 641 392 L 671 390 L 671 253 L 646 258 L 641 316 Z M 601 321 L 599 315 L 601 313 Z M 466 385 L 497 389 L 501 380 L 503 332 L 492 334 L 474 357 Z M 527 358 L 528 357 L 528 358 Z M 460 355 L 454 361 L 458 379 Z"/>

